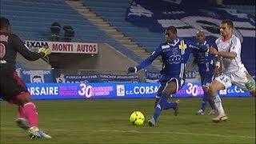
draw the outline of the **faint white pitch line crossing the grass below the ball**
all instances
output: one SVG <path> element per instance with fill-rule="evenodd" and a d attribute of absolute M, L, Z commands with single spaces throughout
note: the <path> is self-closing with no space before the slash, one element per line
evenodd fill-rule
<path fill-rule="evenodd" d="M 20 130 L 18 128 L 7 128 L 2 127 L 1 130 Z M 65 129 L 53 129 L 48 131 L 69 131 L 69 132 L 79 132 L 85 130 L 65 130 Z M 183 134 L 183 135 L 194 135 L 194 136 L 210 136 L 210 137 L 220 137 L 220 138 L 250 138 L 255 139 L 255 136 L 246 135 L 222 135 L 222 134 L 199 134 L 190 132 L 174 132 L 174 131 L 138 131 L 138 130 L 90 130 L 88 133 L 106 132 L 106 133 L 134 133 L 134 134 Z"/>

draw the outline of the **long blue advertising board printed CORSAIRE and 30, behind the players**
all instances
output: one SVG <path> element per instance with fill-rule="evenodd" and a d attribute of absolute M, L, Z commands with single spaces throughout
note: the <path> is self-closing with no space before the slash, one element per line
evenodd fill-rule
<path fill-rule="evenodd" d="M 33 99 L 66 98 L 154 98 L 159 83 L 28 83 Z M 186 83 L 173 97 L 202 97 L 200 82 Z M 222 91 L 222 97 L 250 97 L 237 86 Z"/>

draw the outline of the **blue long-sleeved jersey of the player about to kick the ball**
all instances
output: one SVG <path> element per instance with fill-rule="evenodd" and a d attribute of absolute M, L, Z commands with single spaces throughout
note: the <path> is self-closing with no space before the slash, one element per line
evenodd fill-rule
<path fill-rule="evenodd" d="M 186 62 L 192 50 L 207 51 L 208 48 L 204 45 L 177 38 L 174 42 L 164 42 L 154 50 L 149 58 L 146 58 L 136 68 L 141 70 L 149 66 L 158 56 L 162 57 L 161 74 L 173 78 L 185 78 Z"/>

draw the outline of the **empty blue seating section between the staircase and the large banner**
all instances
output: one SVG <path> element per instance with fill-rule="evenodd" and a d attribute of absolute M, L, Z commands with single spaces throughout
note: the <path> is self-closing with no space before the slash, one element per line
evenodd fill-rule
<path fill-rule="evenodd" d="M 146 51 L 153 52 L 159 42 L 164 42 L 164 35 L 150 32 L 147 28 L 132 25 L 126 22 L 126 10 L 130 6 L 130 0 L 119 2 L 118 0 L 84 0 L 86 6 L 94 10 L 96 14 L 101 16 L 112 26 L 116 26 L 127 37 L 134 42 L 138 42 L 139 46 L 143 46 Z M 106 9 L 106 6 L 108 9 Z"/>

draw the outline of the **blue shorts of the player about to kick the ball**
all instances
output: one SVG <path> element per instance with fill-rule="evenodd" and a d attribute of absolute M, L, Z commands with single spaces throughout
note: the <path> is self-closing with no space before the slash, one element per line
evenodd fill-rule
<path fill-rule="evenodd" d="M 162 90 L 165 89 L 166 84 L 173 82 L 173 81 L 176 82 L 176 86 L 177 86 L 175 93 L 177 93 L 178 90 L 181 90 L 182 86 L 184 86 L 184 84 L 185 84 L 185 79 L 183 79 L 183 78 L 177 78 L 177 77 L 164 78 L 164 77 L 162 77 L 161 79 L 159 79 L 161 86 L 159 87 L 158 93 L 155 96 L 155 98 L 160 98 L 161 94 L 162 94 Z"/>

